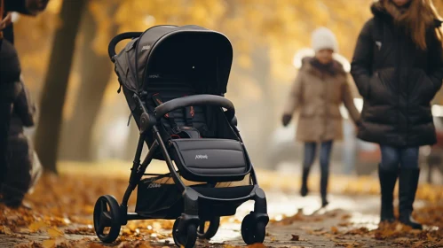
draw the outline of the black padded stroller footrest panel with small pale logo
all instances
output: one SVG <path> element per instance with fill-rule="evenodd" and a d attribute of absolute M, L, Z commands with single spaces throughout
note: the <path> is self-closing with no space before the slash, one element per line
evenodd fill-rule
<path fill-rule="evenodd" d="M 250 166 L 242 143 L 228 139 L 177 139 L 171 141 L 172 158 L 187 180 L 241 181 Z"/>

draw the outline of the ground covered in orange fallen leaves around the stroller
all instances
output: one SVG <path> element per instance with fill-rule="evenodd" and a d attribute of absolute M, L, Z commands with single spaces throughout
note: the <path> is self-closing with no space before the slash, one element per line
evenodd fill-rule
<path fill-rule="evenodd" d="M 113 169 L 102 168 L 95 172 L 78 167 L 76 173 L 68 169 L 61 171 L 59 177 L 45 176 L 34 194 L 28 196 L 32 210 L 12 210 L 0 205 L 0 247 L 104 247 L 92 229 L 92 208 L 103 194 L 113 194 L 120 199 L 128 182 L 126 175 L 113 176 Z M 259 173 L 264 174 L 266 176 L 260 178 L 273 219 L 268 225 L 265 246 L 443 247 L 443 202 L 439 186 L 421 186 L 415 218 L 423 221 L 426 229 L 414 231 L 398 223 L 377 226 L 378 197 L 374 179 L 349 178 L 345 183 L 354 186 L 349 187 L 343 180 L 333 178 L 331 204 L 319 209 L 315 178 L 312 178 L 312 195 L 301 198 L 294 186 L 298 185 L 294 175 L 276 177 L 269 172 Z M 135 196 L 130 204 L 135 204 Z M 252 210 L 251 204 L 242 205 L 235 216 L 222 219 L 218 235 L 210 243 L 197 245 L 243 246 L 239 231 L 241 218 Z M 118 242 L 110 246 L 173 246 L 172 223 L 130 221 L 123 226 Z"/>

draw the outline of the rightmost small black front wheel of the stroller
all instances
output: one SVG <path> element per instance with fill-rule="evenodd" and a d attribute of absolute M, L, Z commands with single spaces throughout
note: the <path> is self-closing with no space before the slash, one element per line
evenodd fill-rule
<path fill-rule="evenodd" d="M 266 235 L 266 224 L 263 221 L 254 221 L 251 214 L 241 221 L 241 237 L 246 244 L 263 243 Z"/>

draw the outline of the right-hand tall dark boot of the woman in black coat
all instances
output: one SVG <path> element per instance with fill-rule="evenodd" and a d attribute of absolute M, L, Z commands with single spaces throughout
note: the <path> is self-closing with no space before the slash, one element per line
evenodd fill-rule
<path fill-rule="evenodd" d="M 423 229 L 422 224 L 412 218 L 419 175 L 419 168 L 401 168 L 399 173 L 399 221 L 413 229 Z"/>

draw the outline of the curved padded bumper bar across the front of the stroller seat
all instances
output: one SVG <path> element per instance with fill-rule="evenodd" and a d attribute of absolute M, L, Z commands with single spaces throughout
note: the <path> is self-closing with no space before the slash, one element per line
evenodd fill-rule
<path fill-rule="evenodd" d="M 235 108 L 233 103 L 225 97 L 216 95 L 194 95 L 188 97 L 179 97 L 163 103 L 155 108 L 155 118 L 158 120 L 168 112 L 172 112 L 178 108 L 192 105 L 216 105 L 226 109 L 227 120 L 233 120 L 235 116 Z"/>

